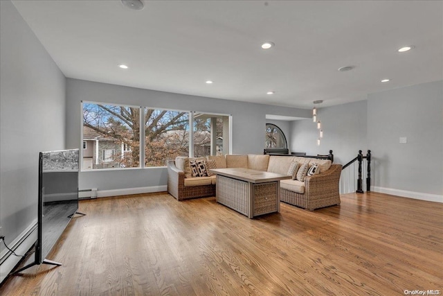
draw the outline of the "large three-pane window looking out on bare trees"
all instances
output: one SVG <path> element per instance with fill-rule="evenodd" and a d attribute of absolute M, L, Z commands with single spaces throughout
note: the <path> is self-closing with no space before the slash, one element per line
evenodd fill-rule
<path fill-rule="evenodd" d="M 82 109 L 82 169 L 165 166 L 177 156 L 229 153 L 229 115 L 86 102 Z"/>

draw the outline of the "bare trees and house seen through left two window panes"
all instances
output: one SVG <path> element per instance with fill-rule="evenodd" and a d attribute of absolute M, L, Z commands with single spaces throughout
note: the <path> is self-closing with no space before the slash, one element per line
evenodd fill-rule
<path fill-rule="evenodd" d="M 166 159 L 187 156 L 189 113 L 144 111 L 145 166 L 165 166 Z M 140 167 L 140 116 L 141 107 L 83 103 L 83 168 Z"/>

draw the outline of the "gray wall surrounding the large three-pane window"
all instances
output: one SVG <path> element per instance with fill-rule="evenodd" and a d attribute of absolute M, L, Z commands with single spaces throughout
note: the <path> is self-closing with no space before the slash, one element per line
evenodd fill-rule
<path fill-rule="evenodd" d="M 233 154 L 263 153 L 266 114 L 309 116 L 309 110 L 203 98 L 149 89 L 108 85 L 85 80 L 66 80 L 66 145 L 80 148 L 82 143 L 81 101 L 141 105 L 198 112 L 231 114 Z M 80 189 L 98 191 L 131 189 L 167 184 L 165 168 L 143 168 L 118 171 L 84 171 L 80 173 Z"/>

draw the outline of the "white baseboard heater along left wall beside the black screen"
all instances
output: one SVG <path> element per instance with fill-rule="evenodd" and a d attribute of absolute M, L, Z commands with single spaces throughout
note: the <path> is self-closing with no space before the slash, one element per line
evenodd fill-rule
<path fill-rule="evenodd" d="M 8 247 L 10 247 L 15 254 L 23 255 L 30 247 L 34 245 L 37 241 L 37 220 L 34 223 L 31 223 L 28 228 L 21 232 L 17 238 L 11 243 L 8 243 Z M 0 284 L 8 277 L 9 273 L 12 269 L 19 263 L 22 257 L 14 256 L 8 251 L 6 248 L 0 254 Z"/>

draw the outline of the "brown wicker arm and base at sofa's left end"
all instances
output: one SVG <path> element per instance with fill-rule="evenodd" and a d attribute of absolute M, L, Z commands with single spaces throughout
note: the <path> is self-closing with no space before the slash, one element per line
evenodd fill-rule
<path fill-rule="evenodd" d="M 215 196 L 215 185 L 185 186 L 185 172 L 175 166 L 174 160 L 168 161 L 167 166 L 168 193 L 177 200 Z"/>

